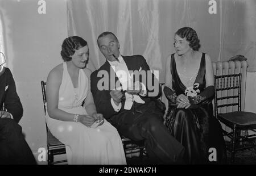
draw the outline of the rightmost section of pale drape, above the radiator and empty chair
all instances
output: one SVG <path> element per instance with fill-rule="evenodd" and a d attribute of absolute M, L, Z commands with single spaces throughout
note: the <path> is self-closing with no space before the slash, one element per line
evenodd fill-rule
<path fill-rule="evenodd" d="M 256 1 L 220 1 L 221 51 L 220 61 L 243 55 L 248 71 L 256 72 Z"/>

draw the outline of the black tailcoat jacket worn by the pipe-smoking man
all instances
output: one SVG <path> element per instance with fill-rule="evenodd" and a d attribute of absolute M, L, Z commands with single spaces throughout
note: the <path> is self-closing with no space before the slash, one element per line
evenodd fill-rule
<path fill-rule="evenodd" d="M 150 68 L 146 62 L 146 60 L 144 59 L 143 56 L 141 55 L 134 55 L 134 56 L 122 56 L 123 60 L 125 61 L 128 70 L 145 70 L 145 71 L 149 71 Z M 104 115 L 105 119 L 110 119 L 113 116 L 118 116 L 118 115 L 122 115 L 123 112 L 127 112 L 127 110 L 124 110 L 124 104 L 125 104 L 125 100 L 122 100 L 122 108 L 119 112 L 115 112 L 114 108 L 110 102 L 111 100 L 111 96 L 110 96 L 110 69 L 112 69 L 112 67 L 110 66 L 109 62 L 106 61 L 104 65 L 102 65 L 98 70 L 94 71 L 91 76 L 90 76 L 90 85 L 91 85 L 91 91 L 92 91 L 92 95 L 94 98 L 94 103 L 96 104 L 96 108 L 97 108 L 97 112 L 100 114 Z M 98 77 L 98 73 L 102 70 L 105 70 L 106 72 L 108 72 L 109 75 L 109 89 L 108 90 L 98 90 L 97 84 L 98 81 L 100 81 L 100 79 L 102 79 L 104 76 Z M 112 69 L 114 76 L 115 76 L 115 81 L 118 81 L 118 77 L 115 75 L 114 70 Z M 158 85 L 158 94 L 155 97 L 159 97 L 160 93 L 161 93 L 161 89 L 159 86 L 159 81 L 158 79 L 155 78 L 154 74 L 152 74 L 151 72 L 149 72 L 151 74 L 152 77 L 152 82 L 154 84 L 154 80 L 157 81 L 157 85 Z M 148 77 L 148 74 L 147 74 Z M 113 79 L 113 77 L 112 77 Z M 140 80 L 141 81 L 141 80 Z M 147 95 L 145 97 L 140 96 L 144 101 L 145 104 L 140 104 L 140 103 L 133 103 L 133 106 L 136 106 L 137 109 L 138 108 L 143 108 L 146 107 L 148 105 L 148 103 L 151 102 L 151 98 L 148 97 L 148 93 L 150 93 L 150 90 L 148 90 L 148 85 L 145 85 L 146 89 L 147 89 Z M 153 92 L 154 90 L 152 90 L 151 92 Z M 133 107 L 131 107 L 131 110 L 133 109 Z"/>

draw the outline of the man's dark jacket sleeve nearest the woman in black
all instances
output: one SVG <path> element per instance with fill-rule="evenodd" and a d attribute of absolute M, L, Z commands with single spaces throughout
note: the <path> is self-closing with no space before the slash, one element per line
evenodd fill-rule
<path fill-rule="evenodd" d="M 142 65 L 142 70 L 146 71 L 147 75 L 147 81 L 146 81 L 146 89 L 147 89 L 147 95 L 146 97 L 155 97 L 159 98 L 161 94 L 161 88 L 159 85 L 159 80 L 155 77 L 154 73 L 150 72 L 150 67 L 147 64 L 147 61 L 143 56 L 141 56 L 141 65 Z M 151 78 L 151 82 L 149 79 Z M 144 83 L 145 81 L 142 80 Z"/>

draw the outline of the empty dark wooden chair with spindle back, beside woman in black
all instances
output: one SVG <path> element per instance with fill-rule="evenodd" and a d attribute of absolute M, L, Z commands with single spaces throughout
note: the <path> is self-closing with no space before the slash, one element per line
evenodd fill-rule
<path fill-rule="evenodd" d="M 241 73 L 214 76 L 214 114 L 218 120 L 232 128 L 231 132 L 223 129 L 224 136 L 230 139 L 227 150 L 231 152 L 231 163 L 234 162 L 237 150 L 256 146 L 256 135 L 241 135 L 241 130 L 256 128 L 256 114 L 241 111 L 241 82 Z"/>

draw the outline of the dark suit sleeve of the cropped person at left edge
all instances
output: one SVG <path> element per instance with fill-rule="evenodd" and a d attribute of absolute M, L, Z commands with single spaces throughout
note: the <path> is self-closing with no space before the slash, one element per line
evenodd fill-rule
<path fill-rule="evenodd" d="M 13 115 L 14 120 L 19 123 L 19 120 L 23 115 L 22 103 L 20 102 L 19 96 L 16 92 L 13 74 L 11 74 L 9 69 L 6 71 L 9 73 L 7 74 L 8 89 L 6 90 L 6 97 L 4 100 L 5 107 L 7 112 L 10 112 Z"/>

